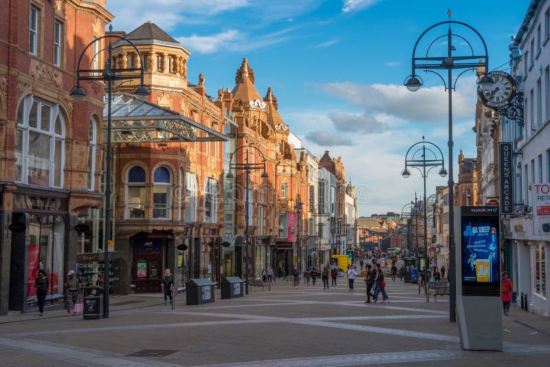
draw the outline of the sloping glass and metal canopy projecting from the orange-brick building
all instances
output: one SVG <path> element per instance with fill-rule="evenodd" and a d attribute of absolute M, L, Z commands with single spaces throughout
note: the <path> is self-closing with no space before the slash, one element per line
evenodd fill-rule
<path fill-rule="evenodd" d="M 103 109 L 104 121 L 107 121 L 107 109 L 106 101 Z M 227 142 L 229 140 L 223 133 L 128 93 L 113 95 L 111 131 L 111 142 L 114 144 Z"/>

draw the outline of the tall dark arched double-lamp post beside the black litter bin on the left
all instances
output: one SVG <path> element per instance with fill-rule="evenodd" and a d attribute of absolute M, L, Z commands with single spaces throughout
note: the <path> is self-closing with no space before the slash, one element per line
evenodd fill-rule
<path fill-rule="evenodd" d="M 109 25 L 109 32 L 112 32 L 113 26 Z M 80 63 L 82 62 L 87 49 L 91 47 L 91 45 L 94 45 L 94 43 L 98 43 L 100 45 L 100 42 L 105 39 L 109 38 L 109 45 L 102 49 L 102 54 L 104 54 L 104 68 L 103 69 L 80 69 Z M 140 67 L 131 67 L 126 69 L 117 69 L 113 68 L 113 43 L 112 38 L 117 39 L 118 41 L 124 41 L 131 45 L 135 52 L 137 53 L 137 56 L 140 58 Z M 95 54 L 93 56 L 94 58 L 99 57 L 99 54 Z M 74 87 L 71 91 L 71 96 L 75 100 L 80 100 L 86 96 L 86 91 L 84 88 L 80 85 L 80 82 L 82 80 L 89 80 L 89 81 L 102 81 L 107 82 L 107 162 L 106 162 L 106 170 L 105 170 L 105 215 L 104 215 L 104 245 L 103 245 L 103 253 L 104 253 L 104 269 L 103 269 L 103 276 L 104 276 L 104 285 L 103 285 L 103 318 L 109 318 L 109 276 L 111 271 L 111 258 L 109 253 L 109 242 L 111 241 L 111 99 L 113 94 L 113 82 L 115 80 L 135 80 L 140 79 L 140 85 L 135 89 L 135 95 L 139 97 L 146 97 L 148 96 L 149 92 L 144 87 L 143 83 L 143 59 L 142 54 L 140 51 L 135 47 L 131 41 L 128 39 L 117 36 L 114 34 L 109 34 L 108 36 L 102 36 L 99 38 L 94 39 L 94 41 L 91 41 L 88 43 L 88 45 L 84 48 L 82 54 L 80 54 L 80 58 L 78 58 L 78 65 L 76 65 L 76 87 Z"/>

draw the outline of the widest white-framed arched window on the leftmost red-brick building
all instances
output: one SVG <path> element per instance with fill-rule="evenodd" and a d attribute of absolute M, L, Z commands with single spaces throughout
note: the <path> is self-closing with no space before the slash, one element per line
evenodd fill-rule
<path fill-rule="evenodd" d="M 27 96 L 17 111 L 15 181 L 63 187 L 65 126 L 58 104 Z"/>

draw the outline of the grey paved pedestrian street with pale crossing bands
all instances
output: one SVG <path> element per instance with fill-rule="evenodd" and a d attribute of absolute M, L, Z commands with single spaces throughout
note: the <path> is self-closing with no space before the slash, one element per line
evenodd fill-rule
<path fill-rule="evenodd" d="M 516 307 L 503 352 L 463 351 L 448 297 L 386 280 L 391 302 L 366 304 L 364 282 L 337 288 L 279 280 L 249 296 L 175 309 L 162 295 L 111 298 L 109 319 L 63 310 L 0 318 L 3 366 L 547 366 L 550 320 Z M 382 296 L 380 296 L 382 298 Z M 545 363 L 546 362 L 546 363 Z"/>

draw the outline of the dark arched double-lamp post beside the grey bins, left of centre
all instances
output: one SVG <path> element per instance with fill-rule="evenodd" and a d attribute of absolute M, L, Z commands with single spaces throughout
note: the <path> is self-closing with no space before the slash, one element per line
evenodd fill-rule
<path fill-rule="evenodd" d="M 245 149 L 244 163 L 232 163 L 234 154 L 237 153 L 238 151 L 241 151 L 241 149 Z M 259 153 L 262 159 L 262 163 L 250 163 L 249 155 L 250 155 L 251 149 L 252 151 L 256 150 Z M 269 175 L 267 175 L 267 171 L 265 170 L 265 157 L 263 153 L 259 150 L 259 148 L 256 148 L 256 146 L 253 146 L 253 145 L 241 146 L 240 148 L 236 148 L 235 151 L 231 153 L 231 157 L 229 158 L 229 172 L 227 175 L 225 175 L 225 177 L 227 177 L 228 179 L 234 178 L 234 175 L 231 172 L 231 170 L 244 170 L 246 174 L 246 181 L 245 181 L 245 248 L 246 248 L 245 250 L 246 252 L 245 254 L 245 258 L 246 258 L 245 293 L 248 294 L 248 272 L 249 272 L 249 264 L 250 264 L 249 252 L 248 252 L 248 218 L 250 216 L 250 213 L 248 212 L 248 203 L 250 200 L 250 198 L 248 197 L 249 195 L 248 186 L 250 185 L 250 173 L 252 173 L 253 170 L 263 170 L 263 173 L 261 175 L 261 178 L 263 179 L 267 179 Z"/>

